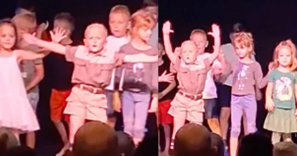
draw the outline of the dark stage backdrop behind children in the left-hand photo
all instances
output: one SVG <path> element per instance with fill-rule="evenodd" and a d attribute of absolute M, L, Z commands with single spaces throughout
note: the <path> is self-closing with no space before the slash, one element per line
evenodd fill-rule
<path fill-rule="evenodd" d="M 18 0 L 5 0 L 0 6 L 0 18 L 12 17 Z M 30 0 L 29 0 L 30 1 Z M 108 28 L 109 10 L 117 4 L 127 5 L 131 13 L 142 7 L 142 0 L 32 0 L 36 4 L 38 21 L 49 21 L 52 29 L 53 17 L 60 12 L 70 12 L 75 18 L 72 38 L 76 44 L 82 43 L 84 30 L 93 22 L 103 23 Z M 36 148 L 42 156 L 54 156 L 61 147 L 58 132 L 49 116 L 49 97 L 51 86 L 47 74 L 47 58 L 44 59 L 45 78 L 40 83 L 40 101 L 37 115 L 41 130 L 37 135 Z M 58 74 L 58 73 L 56 73 Z"/>

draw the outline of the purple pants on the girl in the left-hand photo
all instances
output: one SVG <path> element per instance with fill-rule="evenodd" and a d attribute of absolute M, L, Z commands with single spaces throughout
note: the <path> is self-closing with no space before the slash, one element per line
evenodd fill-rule
<path fill-rule="evenodd" d="M 124 132 L 133 138 L 143 139 L 145 136 L 150 99 L 149 93 L 122 93 Z"/>

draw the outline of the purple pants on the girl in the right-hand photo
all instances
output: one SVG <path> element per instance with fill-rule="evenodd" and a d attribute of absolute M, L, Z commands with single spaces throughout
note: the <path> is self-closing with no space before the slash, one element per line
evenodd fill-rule
<path fill-rule="evenodd" d="M 255 95 L 231 96 L 231 137 L 238 138 L 241 130 L 243 112 L 247 116 L 247 133 L 254 133 L 256 128 L 257 102 Z"/>

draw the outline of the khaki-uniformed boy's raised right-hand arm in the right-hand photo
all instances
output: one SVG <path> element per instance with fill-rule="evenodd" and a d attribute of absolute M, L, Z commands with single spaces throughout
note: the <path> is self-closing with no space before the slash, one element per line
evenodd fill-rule
<path fill-rule="evenodd" d="M 213 52 L 211 56 L 208 58 L 209 63 L 212 64 L 213 61 L 217 59 L 220 53 L 220 46 L 221 46 L 220 27 L 216 24 L 213 24 L 212 32 L 209 32 L 208 34 L 214 37 Z"/>

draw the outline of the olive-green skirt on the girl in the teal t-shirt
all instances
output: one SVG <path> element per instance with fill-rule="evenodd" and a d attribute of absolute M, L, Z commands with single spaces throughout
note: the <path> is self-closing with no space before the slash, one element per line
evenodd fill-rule
<path fill-rule="evenodd" d="M 272 132 L 297 132 L 295 109 L 274 108 L 273 112 L 268 112 L 263 127 Z"/>

